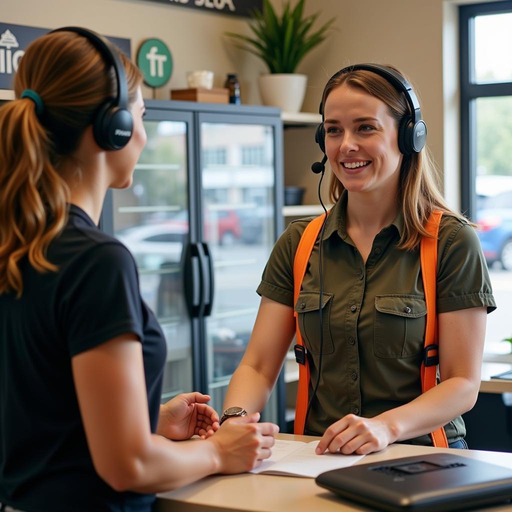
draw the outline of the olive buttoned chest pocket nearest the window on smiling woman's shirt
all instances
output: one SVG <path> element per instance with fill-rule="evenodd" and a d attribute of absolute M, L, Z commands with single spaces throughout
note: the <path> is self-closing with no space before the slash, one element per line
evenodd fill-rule
<path fill-rule="evenodd" d="M 426 304 L 418 295 L 376 295 L 374 351 L 398 359 L 423 351 Z"/>

